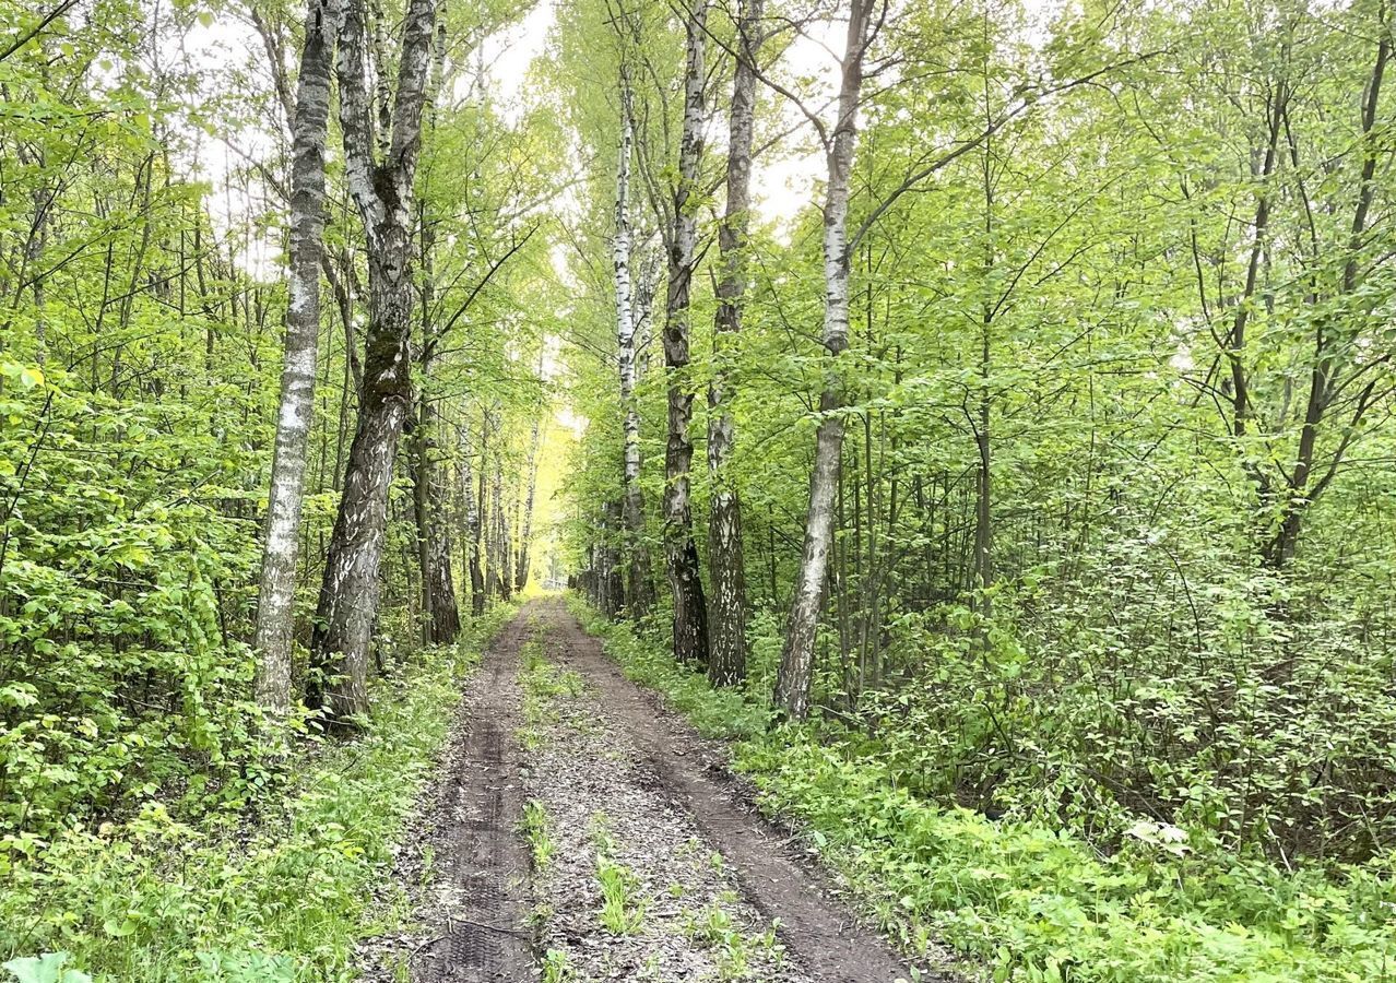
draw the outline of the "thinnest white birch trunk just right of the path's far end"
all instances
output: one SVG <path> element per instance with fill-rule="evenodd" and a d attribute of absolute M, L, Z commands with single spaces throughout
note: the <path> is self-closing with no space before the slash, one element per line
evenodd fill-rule
<path fill-rule="evenodd" d="M 625 431 L 624 490 L 621 512 L 625 525 L 627 574 L 630 578 L 630 616 L 644 617 L 655 605 L 655 591 L 649 570 L 649 550 L 645 547 L 645 498 L 639 487 L 639 408 L 635 404 L 635 334 L 638 310 L 631 304 L 631 250 L 634 235 L 630 225 L 630 165 L 634 155 L 634 123 L 631 117 L 630 80 L 621 77 L 621 140 L 620 166 L 616 170 L 616 239 L 611 256 L 616 267 L 616 342 L 620 366 L 620 404 Z"/>

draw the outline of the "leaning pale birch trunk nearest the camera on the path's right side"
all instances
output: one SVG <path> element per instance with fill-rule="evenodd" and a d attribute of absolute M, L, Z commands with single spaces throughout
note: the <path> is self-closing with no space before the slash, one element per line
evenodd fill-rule
<path fill-rule="evenodd" d="M 843 408 L 843 390 L 838 362 L 849 346 L 849 176 L 857 144 L 863 56 L 871 13 L 871 0 L 852 0 L 839 85 L 839 119 L 828 142 L 829 180 L 824 197 L 824 348 L 828 366 L 819 395 L 819 429 L 810 475 L 810 508 L 804 519 L 800 574 L 790 602 L 775 693 L 776 704 L 797 720 L 810 712 L 814 644 L 833 540 L 833 494 L 839 485 L 839 454 L 843 447 L 843 416 L 839 412 Z"/>

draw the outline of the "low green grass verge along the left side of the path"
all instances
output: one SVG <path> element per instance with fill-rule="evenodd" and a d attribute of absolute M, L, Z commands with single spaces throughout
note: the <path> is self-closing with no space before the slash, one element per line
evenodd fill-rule
<path fill-rule="evenodd" d="M 140 983 L 353 979 L 355 943 L 406 916 L 401 894 L 374 902 L 374 888 L 462 680 L 512 613 L 491 609 L 459 645 L 378 680 L 364 733 L 297 753 L 254 820 L 184 824 L 152 803 L 47 843 L 0 885 L 0 959 L 67 952 L 96 980 Z"/>

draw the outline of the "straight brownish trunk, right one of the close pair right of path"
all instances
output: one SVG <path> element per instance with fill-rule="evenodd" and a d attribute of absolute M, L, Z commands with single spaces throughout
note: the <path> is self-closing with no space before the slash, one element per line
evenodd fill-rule
<path fill-rule="evenodd" d="M 708 387 L 708 471 L 712 504 L 708 517 L 708 584 L 712 653 L 708 679 L 732 686 L 747 677 L 747 574 L 741 554 L 741 501 L 727 459 L 736 429 L 729 401 L 732 348 L 741 331 L 747 289 L 747 229 L 751 209 L 751 138 L 757 103 L 757 50 L 761 47 L 764 0 L 743 0 L 737 22 L 737 67 L 732 82 L 727 137 L 727 207 L 718 229 L 722 253 L 718 314 L 713 323 L 715 367 Z"/>

